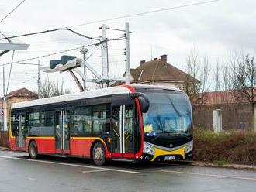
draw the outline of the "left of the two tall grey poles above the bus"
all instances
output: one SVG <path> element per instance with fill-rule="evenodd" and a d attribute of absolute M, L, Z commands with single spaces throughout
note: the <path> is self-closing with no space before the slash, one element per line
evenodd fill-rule
<path fill-rule="evenodd" d="M 106 25 L 102 24 L 102 77 L 109 76 L 108 43 L 106 39 Z"/>

